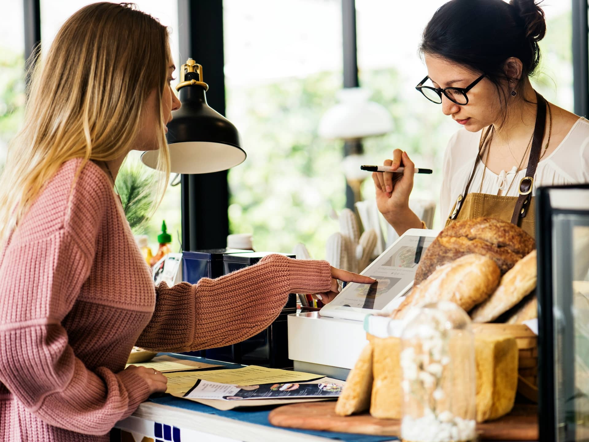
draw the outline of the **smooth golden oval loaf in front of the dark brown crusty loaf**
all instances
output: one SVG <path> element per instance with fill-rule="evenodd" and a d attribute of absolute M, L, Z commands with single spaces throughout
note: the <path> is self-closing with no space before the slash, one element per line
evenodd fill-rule
<path fill-rule="evenodd" d="M 485 301 L 501 278 L 494 260 L 471 253 L 436 269 L 413 288 L 392 317 L 402 319 L 409 309 L 430 302 L 451 301 L 465 311 Z"/>

